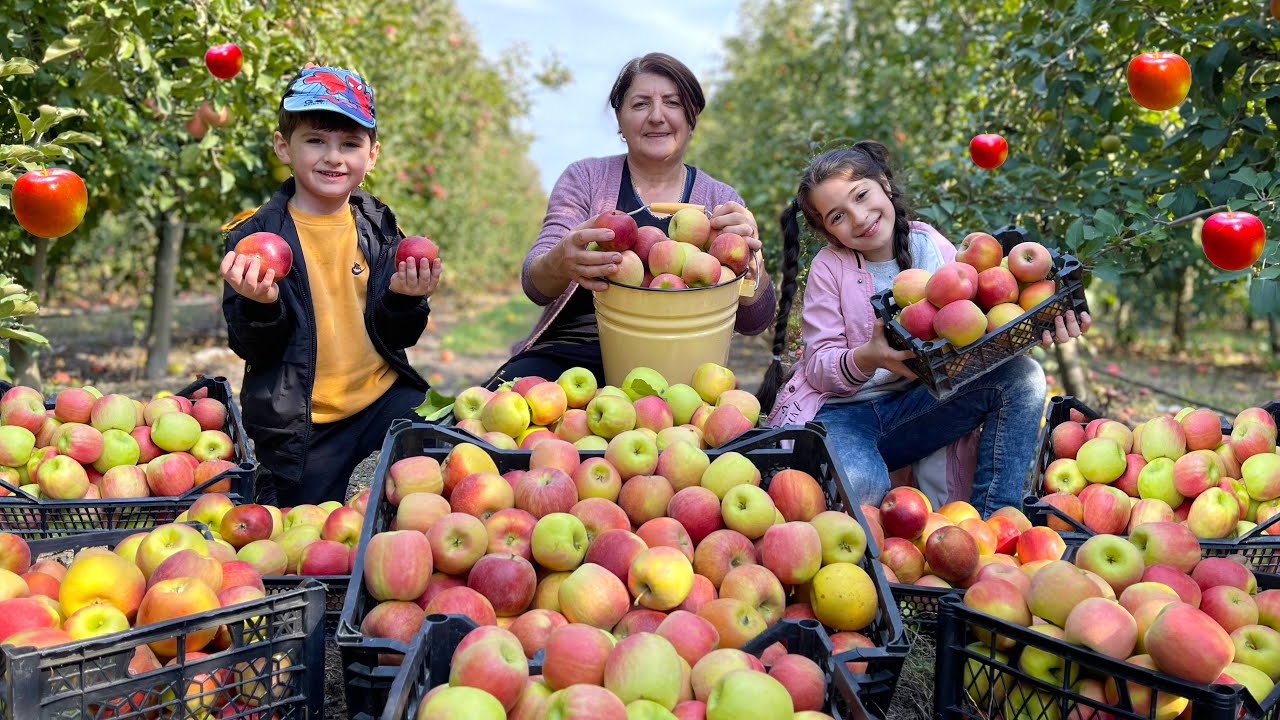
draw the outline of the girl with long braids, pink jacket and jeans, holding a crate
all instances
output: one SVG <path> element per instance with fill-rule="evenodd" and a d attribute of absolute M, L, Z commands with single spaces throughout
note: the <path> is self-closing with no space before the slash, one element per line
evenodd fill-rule
<path fill-rule="evenodd" d="M 814 256 L 805 286 L 804 357 L 780 387 L 780 356 L 799 272 L 800 213 L 828 243 Z M 815 158 L 782 211 L 781 225 L 782 299 L 773 364 L 759 392 L 762 407 L 772 409 L 768 424 L 823 423 L 854 500 L 868 505 L 879 505 L 888 492 L 890 469 L 948 446 L 947 496 L 964 498 L 966 468 L 974 468 L 973 443 L 957 441 L 980 428 L 969 502 L 983 518 L 1006 505 L 1020 507 L 1044 411 L 1044 373 L 1030 357 L 1019 356 L 942 401 L 913 382 L 915 375 L 902 364 L 911 352 L 890 347 L 870 297 L 891 287 L 899 270 L 937 270 L 955 260 L 956 250 L 938 231 L 911 222 L 884 146 L 863 141 Z M 1088 314 L 1076 322 L 1068 313 L 1043 342 L 1066 342 L 1088 327 Z"/>

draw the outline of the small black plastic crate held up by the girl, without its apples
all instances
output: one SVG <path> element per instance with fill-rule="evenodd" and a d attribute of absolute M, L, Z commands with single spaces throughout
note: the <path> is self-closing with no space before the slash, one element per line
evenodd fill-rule
<path fill-rule="evenodd" d="M 1006 254 L 1027 240 L 1025 231 L 1020 228 L 1004 228 L 992 234 L 1000 240 Z M 1084 265 L 1070 255 L 1059 255 L 1050 247 L 1046 250 L 1053 259 L 1051 278 L 1057 283 L 1057 292 L 1019 319 L 986 333 L 964 347 L 952 347 L 945 340 L 924 341 L 911 337 L 897 322 L 899 306 L 893 300 L 893 292 L 884 290 L 872 296 L 872 309 L 877 318 L 884 320 L 884 337 L 890 346 L 915 352 L 915 357 L 905 360 L 904 364 L 920 378 L 933 397 L 940 400 L 950 397 L 969 380 L 1029 352 L 1039 345 L 1044 331 L 1053 331 L 1053 319 L 1057 315 L 1068 310 L 1075 310 L 1076 315 L 1088 311 L 1088 301 L 1084 297 Z"/>

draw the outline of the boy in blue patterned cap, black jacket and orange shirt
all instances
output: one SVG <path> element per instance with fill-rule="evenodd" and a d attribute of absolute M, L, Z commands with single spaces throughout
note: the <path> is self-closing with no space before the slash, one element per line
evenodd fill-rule
<path fill-rule="evenodd" d="M 244 359 L 244 429 L 262 465 L 261 501 L 346 500 L 356 465 L 428 384 L 408 364 L 426 328 L 440 261 L 394 266 L 403 237 L 387 205 L 358 190 L 378 160 L 374 95 L 356 73 L 310 67 L 280 100 L 275 156 L 292 165 L 271 200 L 232 227 L 221 275 L 229 345 Z M 293 250 L 283 278 L 237 255 L 253 232 Z"/>

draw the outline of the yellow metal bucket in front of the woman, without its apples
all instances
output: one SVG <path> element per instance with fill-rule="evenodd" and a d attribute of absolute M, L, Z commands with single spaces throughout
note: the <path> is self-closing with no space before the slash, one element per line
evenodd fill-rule
<path fill-rule="evenodd" d="M 669 383 L 689 383 L 703 363 L 728 363 L 740 293 L 755 292 L 744 272 L 708 287 L 650 290 L 609 282 L 595 292 L 604 380 L 621 386 L 635 368 L 652 368 Z"/>

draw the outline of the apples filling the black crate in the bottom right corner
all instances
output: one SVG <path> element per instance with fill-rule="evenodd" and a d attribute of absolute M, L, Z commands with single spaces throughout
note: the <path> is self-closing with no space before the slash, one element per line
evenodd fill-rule
<path fill-rule="evenodd" d="M 964 603 L 1183 680 L 1243 685 L 1258 702 L 1280 679 L 1280 589 L 1258 593 L 1243 557 L 1202 560 L 1198 539 L 1178 523 L 1144 523 L 1129 538 L 1094 536 L 1076 550 L 1074 562 L 988 565 L 965 591 Z M 1015 647 L 998 633 L 974 628 L 974 635 L 977 642 L 968 647 L 984 657 L 1016 665 L 1055 688 L 1069 687 L 1098 706 L 1123 702 L 1115 678 L 1091 673 L 1087 665 L 1068 664 L 1048 650 Z M 979 706 L 1004 703 L 1005 717 L 1057 716 L 1052 694 L 998 675 L 968 661 L 965 687 Z M 1175 717 L 1188 710 L 1187 698 L 1166 693 L 1152 708 L 1149 687 L 1126 684 L 1138 715 Z M 1101 715 L 1082 703 L 1071 716 L 1096 712 Z"/>

